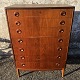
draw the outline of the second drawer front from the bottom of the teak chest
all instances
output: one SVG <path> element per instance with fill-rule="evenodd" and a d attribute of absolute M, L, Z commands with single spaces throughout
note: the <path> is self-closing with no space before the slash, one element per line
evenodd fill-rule
<path fill-rule="evenodd" d="M 51 54 L 51 53 L 50 53 Z M 16 61 L 24 61 L 24 62 L 53 62 L 54 59 L 57 60 L 57 61 L 62 61 L 62 60 L 66 60 L 65 56 L 64 56 L 65 53 L 62 53 L 62 54 L 57 54 L 56 53 L 56 56 L 53 54 L 51 55 L 29 55 L 29 56 L 25 56 L 25 55 L 16 55 L 15 56 L 15 60 Z"/>

